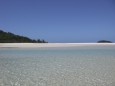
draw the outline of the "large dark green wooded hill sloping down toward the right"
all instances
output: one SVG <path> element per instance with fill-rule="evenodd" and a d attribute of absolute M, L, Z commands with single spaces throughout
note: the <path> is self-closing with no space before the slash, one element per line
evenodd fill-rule
<path fill-rule="evenodd" d="M 3 30 L 0 30 L 0 43 L 48 43 L 45 40 L 35 40 L 30 39 L 25 36 L 20 36 L 13 34 L 11 32 L 5 32 Z"/>

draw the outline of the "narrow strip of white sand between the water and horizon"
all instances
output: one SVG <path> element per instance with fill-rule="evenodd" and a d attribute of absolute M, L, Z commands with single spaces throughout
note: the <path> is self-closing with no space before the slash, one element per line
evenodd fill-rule
<path fill-rule="evenodd" d="M 0 43 L 1 48 L 38 48 L 38 47 L 74 47 L 115 45 L 115 43 Z"/>

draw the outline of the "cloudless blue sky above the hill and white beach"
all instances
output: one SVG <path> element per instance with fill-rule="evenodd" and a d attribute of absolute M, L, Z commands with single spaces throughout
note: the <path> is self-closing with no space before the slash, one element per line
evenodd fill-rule
<path fill-rule="evenodd" d="M 115 42 L 115 0 L 0 0 L 0 29 L 51 43 Z"/>

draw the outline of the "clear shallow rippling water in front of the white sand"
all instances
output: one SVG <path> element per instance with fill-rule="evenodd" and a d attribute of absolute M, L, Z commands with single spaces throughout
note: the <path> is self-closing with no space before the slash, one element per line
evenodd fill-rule
<path fill-rule="evenodd" d="M 115 86 L 115 46 L 0 48 L 0 86 Z"/>

